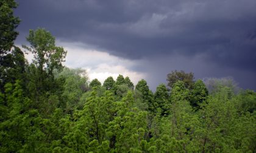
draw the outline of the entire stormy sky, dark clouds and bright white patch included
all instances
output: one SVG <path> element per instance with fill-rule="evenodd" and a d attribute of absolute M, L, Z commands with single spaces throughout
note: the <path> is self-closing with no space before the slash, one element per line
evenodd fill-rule
<path fill-rule="evenodd" d="M 172 70 L 184 70 L 256 90 L 255 0 L 17 2 L 15 43 L 27 44 L 29 29 L 49 30 L 68 50 L 65 66 L 87 69 L 90 80 L 122 74 L 155 90 Z"/>

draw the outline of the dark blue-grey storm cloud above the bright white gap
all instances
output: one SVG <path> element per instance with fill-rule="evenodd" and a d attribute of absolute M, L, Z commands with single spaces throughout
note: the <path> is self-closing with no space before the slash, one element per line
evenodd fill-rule
<path fill-rule="evenodd" d="M 181 55 L 256 71 L 255 0 L 20 0 L 20 33 L 45 27 L 129 59 Z M 21 38 L 18 41 L 21 41 Z"/>

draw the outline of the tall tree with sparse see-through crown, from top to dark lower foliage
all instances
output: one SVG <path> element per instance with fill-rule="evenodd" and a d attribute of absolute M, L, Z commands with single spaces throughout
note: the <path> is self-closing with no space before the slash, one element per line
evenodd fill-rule
<path fill-rule="evenodd" d="M 30 47 L 23 46 L 34 55 L 33 63 L 27 69 L 29 79 L 28 94 L 35 102 L 34 107 L 42 108 L 45 100 L 55 92 L 54 69 L 62 70 L 66 51 L 55 46 L 55 38 L 44 29 L 30 30 L 27 41 Z"/>

